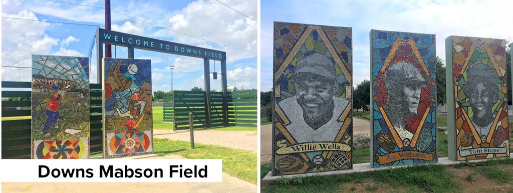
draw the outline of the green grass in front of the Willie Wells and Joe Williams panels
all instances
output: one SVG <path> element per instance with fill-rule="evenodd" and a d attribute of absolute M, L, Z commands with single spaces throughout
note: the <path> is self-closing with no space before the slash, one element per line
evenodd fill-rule
<path fill-rule="evenodd" d="M 262 192 L 344 192 L 343 183 L 362 183 L 372 180 L 390 187 L 405 187 L 408 191 L 457 191 L 460 185 L 452 180 L 452 175 L 441 165 L 416 165 L 404 168 L 371 171 L 367 173 L 314 176 L 303 178 L 301 185 L 284 185 L 273 182 L 262 189 Z M 379 188 L 379 187 L 378 187 Z M 368 187 L 368 191 L 376 191 L 377 187 Z"/>

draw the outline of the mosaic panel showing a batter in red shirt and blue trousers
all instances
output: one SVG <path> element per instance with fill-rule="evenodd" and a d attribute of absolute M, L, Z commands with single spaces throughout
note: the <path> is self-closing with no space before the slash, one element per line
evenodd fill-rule
<path fill-rule="evenodd" d="M 89 158 L 89 58 L 32 55 L 33 159 Z"/>

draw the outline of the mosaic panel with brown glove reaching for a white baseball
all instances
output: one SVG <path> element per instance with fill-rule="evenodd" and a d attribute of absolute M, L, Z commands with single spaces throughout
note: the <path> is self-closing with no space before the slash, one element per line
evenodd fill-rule
<path fill-rule="evenodd" d="M 103 58 L 104 155 L 151 153 L 151 60 Z"/>

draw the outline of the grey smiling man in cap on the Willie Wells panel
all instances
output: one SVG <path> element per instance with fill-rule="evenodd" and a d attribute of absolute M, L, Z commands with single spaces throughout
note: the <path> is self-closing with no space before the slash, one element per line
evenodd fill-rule
<path fill-rule="evenodd" d="M 349 104 L 336 96 L 341 85 L 333 62 L 315 53 L 299 60 L 295 69 L 290 77 L 295 94 L 278 103 L 290 119 L 285 128 L 298 143 L 333 141 L 344 124 L 338 119 Z"/>

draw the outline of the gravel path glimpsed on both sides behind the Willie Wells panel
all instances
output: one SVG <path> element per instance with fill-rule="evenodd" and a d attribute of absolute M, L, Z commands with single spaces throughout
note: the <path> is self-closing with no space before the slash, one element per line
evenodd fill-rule
<path fill-rule="evenodd" d="M 353 118 L 353 135 L 370 135 L 370 122 L 366 119 Z M 271 162 L 272 152 L 272 124 L 265 124 L 260 127 L 260 162 Z"/>

